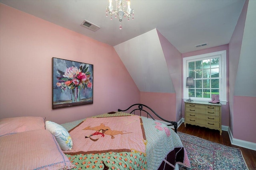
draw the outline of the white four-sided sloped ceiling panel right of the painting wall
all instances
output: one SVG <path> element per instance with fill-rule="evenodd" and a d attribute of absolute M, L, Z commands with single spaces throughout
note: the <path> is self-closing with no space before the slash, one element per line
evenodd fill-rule
<path fill-rule="evenodd" d="M 114 49 L 141 92 L 175 93 L 156 29 Z"/>

